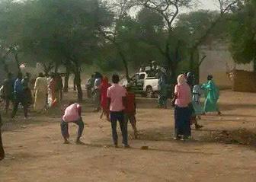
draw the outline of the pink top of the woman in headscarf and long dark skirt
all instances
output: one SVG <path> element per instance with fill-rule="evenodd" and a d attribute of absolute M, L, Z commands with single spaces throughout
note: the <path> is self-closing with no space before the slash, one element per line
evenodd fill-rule
<path fill-rule="evenodd" d="M 178 95 L 175 101 L 175 105 L 177 105 L 178 107 L 188 107 L 188 104 L 192 101 L 190 87 L 187 84 L 176 85 L 174 89 L 174 94 Z"/>

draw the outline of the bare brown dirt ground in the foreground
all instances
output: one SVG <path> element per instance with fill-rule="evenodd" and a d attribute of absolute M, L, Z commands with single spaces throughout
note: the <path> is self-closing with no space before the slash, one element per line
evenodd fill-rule
<path fill-rule="evenodd" d="M 65 97 L 75 98 L 75 93 Z M 254 140 L 256 94 L 223 91 L 220 98 L 223 115 L 203 117 L 200 124 L 204 128 L 193 130 L 193 139 L 186 142 L 172 139 L 171 108 L 157 109 L 153 99 L 138 98 L 137 102 L 140 139 L 132 139 L 129 126 L 130 149 L 112 148 L 110 123 L 91 112 L 90 99 L 83 103 L 85 145 L 75 145 L 77 127 L 73 125 L 71 144 L 62 144 L 60 110 L 40 115 L 31 113 L 30 121 L 22 120 L 22 113 L 17 121 L 5 118 L 6 158 L 0 162 L 0 181 L 256 181 L 253 142 L 242 145 L 239 143 L 247 142 L 221 141 L 218 137 L 229 136 L 232 131 L 240 133 L 238 129 L 246 128 L 251 133 L 248 141 Z M 149 149 L 142 150 L 143 145 Z"/>

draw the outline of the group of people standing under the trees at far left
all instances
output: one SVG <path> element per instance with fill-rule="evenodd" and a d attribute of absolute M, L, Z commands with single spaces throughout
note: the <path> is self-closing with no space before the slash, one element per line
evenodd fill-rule
<path fill-rule="evenodd" d="M 12 73 L 8 73 L 8 78 L 2 85 L 2 99 L 5 101 L 6 113 L 10 103 L 13 105 L 11 118 L 16 116 L 19 105 L 23 106 L 25 119 L 29 119 L 30 108 L 42 112 L 56 106 L 62 99 L 62 78 L 58 73 L 52 73 L 50 76 L 39 73 L 33 86 L 31 89 L 29 73 L 23 75 L 19 72 L 16 78 Z"/>

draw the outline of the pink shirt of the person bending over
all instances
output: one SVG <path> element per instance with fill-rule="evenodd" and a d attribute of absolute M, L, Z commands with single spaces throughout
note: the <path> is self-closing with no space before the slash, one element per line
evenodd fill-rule
<path fill-rule="evenodd" d="M 64 116 L 62 120 L 65 122 L 72 122 L 80 119 L 79 110 L 81 110 L 81 106 L 79 104 L 72 104 L 66 108 Z"/>

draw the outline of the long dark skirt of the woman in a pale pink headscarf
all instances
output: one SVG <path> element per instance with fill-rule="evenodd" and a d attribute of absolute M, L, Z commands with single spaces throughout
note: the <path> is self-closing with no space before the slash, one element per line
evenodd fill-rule
<path fill-rule="evenodd" d="M 191 110 L 189 107 L 174 107 L 174 132 L 175 136 L 191 136 L 190 128 Z"/>

